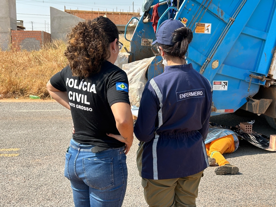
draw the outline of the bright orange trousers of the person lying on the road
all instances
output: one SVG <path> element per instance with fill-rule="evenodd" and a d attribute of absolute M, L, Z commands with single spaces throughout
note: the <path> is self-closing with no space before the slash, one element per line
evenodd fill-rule
<path fill-rule="evenodd" d="M 215 158 L 219 166 L 230 164 L 222 154 L 235 151 L 234 137 L 227 135 L 205 145 L 207 154 L 210 158 Z"/>

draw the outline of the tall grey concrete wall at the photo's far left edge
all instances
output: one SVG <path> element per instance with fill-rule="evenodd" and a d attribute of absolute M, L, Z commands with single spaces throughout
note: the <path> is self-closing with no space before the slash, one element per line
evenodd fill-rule
<path fill-rule="evenodd" d="M 16 0 L 0 0 L 0 49 L 11 45 L 11 30 L 17 30 Z"/>

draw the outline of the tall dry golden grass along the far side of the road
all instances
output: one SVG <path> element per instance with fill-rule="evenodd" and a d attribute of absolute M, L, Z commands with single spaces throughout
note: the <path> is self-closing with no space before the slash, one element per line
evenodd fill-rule
<path fill-rule="evenodd" d="M 127 37 L 130 39 L 131 35 Z M 122 34 L 120 42 L 129 50 L 130 42 Z M 0 99 L 28 98 L 29 95 L 50 98 L 46 84 L 68 64 L 65 49 L 63 41 L 52 41 L 39 51 L 0 51 Z"/>

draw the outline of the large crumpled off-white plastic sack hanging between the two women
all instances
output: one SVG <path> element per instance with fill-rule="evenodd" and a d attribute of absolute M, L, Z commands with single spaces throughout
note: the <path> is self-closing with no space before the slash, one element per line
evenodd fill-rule
<path fill-rule="evenodd" d="M 145 58 L 123 65 L 122 69 L 127 73 L 129 79 L 129 101 L 131 106 L 140 106 L 141 96 L 147 83 L 147 68 L 154 58 Z"/>

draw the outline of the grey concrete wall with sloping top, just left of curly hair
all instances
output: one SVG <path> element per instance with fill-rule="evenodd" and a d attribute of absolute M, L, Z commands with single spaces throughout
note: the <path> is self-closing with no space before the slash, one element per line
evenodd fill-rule
<path fill-rule="evenodd" d="M 2 0 L 0 0 L 2 1 Z M 66 35 L 78 22 L 85 21 L 72 14 L 50 7 L 51 38 L 66 40 Z"/>

